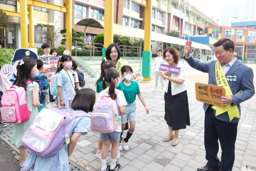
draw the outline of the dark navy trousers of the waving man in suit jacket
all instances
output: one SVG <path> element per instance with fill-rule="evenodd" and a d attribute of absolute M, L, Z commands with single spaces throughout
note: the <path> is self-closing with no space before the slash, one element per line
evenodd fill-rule
<path fill-rule="evenodd" d="M 235 160 L 235 143 L 238 123 L 223 122 L 214 116 L 211 106 L 205 112 L 204 147 L 207 166 L 220 168 L 221 171 L 232 171 Z M 221 162 L 217 157 L 221 145 Z"/>

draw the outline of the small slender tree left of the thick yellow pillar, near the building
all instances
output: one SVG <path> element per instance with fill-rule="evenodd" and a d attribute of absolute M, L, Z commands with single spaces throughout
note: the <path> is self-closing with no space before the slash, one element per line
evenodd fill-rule
<path fill-rule="evenodd" d="M 42 25 L 43 31 L 45 32 L 44 34 L 44 39 L 47 39 L 49 41 L 49 45 L 51 47 L 54 47 L 54 41 L 58 40 L 58 37 L 60 36 L 60 32 L 58 29 L 55 29 L 55 26 L 50 26 L 49 21 L 47 21 L 46 29 Z"/>

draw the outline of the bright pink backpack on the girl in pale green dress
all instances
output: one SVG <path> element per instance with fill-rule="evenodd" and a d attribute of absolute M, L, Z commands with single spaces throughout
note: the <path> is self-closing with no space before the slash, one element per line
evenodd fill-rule
<path fill-rule="evenodd" d="M 28 80 L 27 84 L 32 83 Z M 11 86 L 3 93 L 1 104 L 1 116 L 4 122 L 9 124 L 20 124 L 29 119 L 31 109 L 26 103 L 26 91 L 23 87 Z"/>

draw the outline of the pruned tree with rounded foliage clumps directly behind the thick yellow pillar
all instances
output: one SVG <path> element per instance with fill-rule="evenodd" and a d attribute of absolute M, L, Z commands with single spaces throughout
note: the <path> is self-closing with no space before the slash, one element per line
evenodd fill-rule
<path fill-rule="evenodd" d="M 67 29 L 61 29 L 60 31 L 63 39 L 61 39 L 61 44 L 66 44 Z M 72 28 L 72 45 L 75 44 L 75 41 L 82 42 L 78 43 L 77 46 L 84 46 L 84 32 L 77 32 L 76 29 Z"/>

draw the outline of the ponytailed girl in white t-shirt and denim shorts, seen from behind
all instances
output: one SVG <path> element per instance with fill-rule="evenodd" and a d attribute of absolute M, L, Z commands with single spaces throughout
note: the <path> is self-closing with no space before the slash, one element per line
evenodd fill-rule
<path fill-rule="evenodd" d="M 100 133 L 100 138 L 103 140 L 103 146 L 101 151 L 102 158 L 102 168 L 101 171 L 118 171 L 120 169 L 120 164 L 117 163 L 117 153 L 119 151 L 119 140 L 121 134 L 121 117 L 125 114 L 125 105 L 127 102 L 125 100 L 125 95 L 122 91 L 117 90 L 116 86 L 119 85 L 119 73 L 115 69 L 109 69 L 105 73 L 103 84 L 108 84 L 108 87 L 105 90 L 102 90 L 99 93 L 99 98 L 102 96 L 110 96 L 111 99 L 116 101 L 117 109 L 119 115 L 118 117 L 118 126 L 116 130 L 112 133 Z M 103 85 L 104 86 L 104 85 Z M 98 100 L 99 101 L 99 100 Z M 108 149 L 110 144 L 111 147 L 111 162 L 110 165 L 107 165 Z"/>

